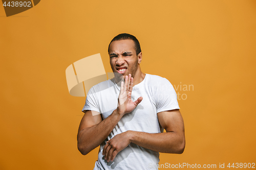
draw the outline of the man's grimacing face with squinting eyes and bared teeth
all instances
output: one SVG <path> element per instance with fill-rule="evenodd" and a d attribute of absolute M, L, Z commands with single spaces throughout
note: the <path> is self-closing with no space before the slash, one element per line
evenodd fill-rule
<path fill-rule="evenodd" d="M 118 72 L 123 77 L 129 74 L 134 77 L 138 69 L 138 56 L 133 40 L 125 39 L 111 42 L 109 55 L 113 72 Z"/>

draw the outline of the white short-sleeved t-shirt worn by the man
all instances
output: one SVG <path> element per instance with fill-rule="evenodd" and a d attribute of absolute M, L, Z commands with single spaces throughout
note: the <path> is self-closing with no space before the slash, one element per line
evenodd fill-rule
<path fill-rule="evenodd" d="M 93 86 L 88 92 L 82 111 L 97 111 L 105 119 L 117 108 L 119 92 L 120 86 L 113 79 Z M 131 113 L 125 114 L 108 138 L 100 144 L 98 160 L 95 162 L 94 169 L 158 169 L 159 153 L 134 143 L 130 143 L 120 151 L 114 161 L 107 162 L 102 155 L 106 141 L 117 134 L 128 130 L 147 133 L 163 132 L 163 128 L 158 122 L 157 113 L 180 109 L 173 85 L 160 76 L 146 74 L 144 80 L 133 87 L 132 100 L 135 101 L 140 96 L 143 97 L 142 102 Z"/>

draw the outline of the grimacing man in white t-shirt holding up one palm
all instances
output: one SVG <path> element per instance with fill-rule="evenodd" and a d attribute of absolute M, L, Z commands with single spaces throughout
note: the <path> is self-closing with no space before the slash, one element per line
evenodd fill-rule
<path fill-rule="evenodd" d="M 86 155 L 100 145 L 94 169 L 158 169 L 159 152 L 181 154 L 185 148 L 176 92 L 167 79 L 141 71 L 133 35 L 117 35 L 109 55 L 115 78 L 88 92 L 78 150 Z"/>

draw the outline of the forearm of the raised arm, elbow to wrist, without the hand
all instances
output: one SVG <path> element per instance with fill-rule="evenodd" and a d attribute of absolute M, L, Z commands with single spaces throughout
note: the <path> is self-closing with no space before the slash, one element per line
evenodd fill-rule
<path fill-rule="evenodd" d="M 121 117 L 122 115 L 114 110 L 110 116 L 102 120 L 98 125 L 79 131 L 77 145 L 81 154 L 86 155 L 98 147 L 109 136 Z"/>

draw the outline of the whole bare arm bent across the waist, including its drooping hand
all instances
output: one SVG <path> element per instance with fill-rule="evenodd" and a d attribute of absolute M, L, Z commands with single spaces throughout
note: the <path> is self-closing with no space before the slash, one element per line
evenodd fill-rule
<path fill-rule="evenodd" d="M 169 110 L 158 113 L 160 125 L 166 133 L 145 133 L 126 131 L 114 136 L 106 143 L 103 155 L 108 161 L 113 161 L 118 152 L 131 142 L 140 147 L 156 152 L 181 154 L 185 148 L 183 118 L 179 110 Z"/>

